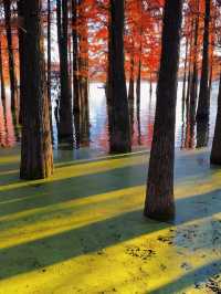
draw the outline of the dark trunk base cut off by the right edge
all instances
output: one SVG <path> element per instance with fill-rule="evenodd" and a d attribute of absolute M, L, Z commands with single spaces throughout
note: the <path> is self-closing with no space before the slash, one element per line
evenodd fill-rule
<path fill-rule="evenodd" d="M 210 162 L 212 165 L 221 165 L 221 73 L 220 73 L 220 86 L 218 94 L 218 114 L 215 120 Z"/>

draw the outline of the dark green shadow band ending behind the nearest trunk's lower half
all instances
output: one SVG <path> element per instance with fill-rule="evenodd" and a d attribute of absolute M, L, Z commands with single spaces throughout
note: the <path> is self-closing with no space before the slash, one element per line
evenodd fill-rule
<path fill-rule="evenodd" d="M 137 165 L 2 190 L 0 191 L 0 218 L 96 195 L 101 195 L 102 198 L 102 195 L 110 191 L 141 186 L 145 180 L 146 167 Z"/>

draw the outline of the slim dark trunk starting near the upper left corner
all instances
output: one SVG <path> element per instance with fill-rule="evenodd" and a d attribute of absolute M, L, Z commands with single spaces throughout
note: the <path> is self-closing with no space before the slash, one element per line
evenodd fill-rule
<path fill-rule="evenodd" d="M 12 45 L 12 31 L 11 31 L 11 1 L 3 0 L 6 31 L 7 31 L 7 44 L 9 56 L 9 78 L 11 91 L 11 109 L 13 112 L 15 123 L 19 118 L 19 103 L 18 103 L 18 83 L 14 67 L 13 45 Z"/>

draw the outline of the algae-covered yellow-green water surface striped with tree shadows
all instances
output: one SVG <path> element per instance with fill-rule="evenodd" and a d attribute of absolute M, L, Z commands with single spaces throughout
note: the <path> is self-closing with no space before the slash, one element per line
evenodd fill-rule
<path fill-rule="evenodd" d="M 73 160 L 19 180 L 0 150 L 0 293 L 221 293 L 221 169 L 177 151 L 171 223 L 143 217 L 147 151 Z"/>

